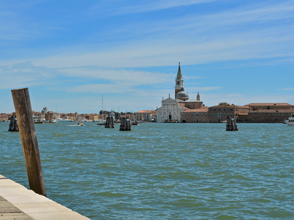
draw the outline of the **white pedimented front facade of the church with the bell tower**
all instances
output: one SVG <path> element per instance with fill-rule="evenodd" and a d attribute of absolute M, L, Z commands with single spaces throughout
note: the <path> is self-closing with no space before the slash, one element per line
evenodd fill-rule
<path fill-rule="evenodd" d="M 179 107 L 178 102 L 182 101 L 179 99 L 171 98 L 170 94 L 167 99 L 163 99 L 161 101 L 161 107 L 156 109 L 156 118 L 157 122 L 162 122 L 165 120 L 175 119 L 180 122 L 181 111 L 183 111 L 183 107 Z"/>

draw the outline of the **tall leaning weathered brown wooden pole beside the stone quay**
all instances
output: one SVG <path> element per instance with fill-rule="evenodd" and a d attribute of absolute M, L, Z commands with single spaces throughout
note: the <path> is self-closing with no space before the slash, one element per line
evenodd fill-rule
<path fill-rule="evenodd" d="M 26 161 L 30 189 L 46 196 L 39 146 L 28 88 L 12 89 L 12 98 Z"/>

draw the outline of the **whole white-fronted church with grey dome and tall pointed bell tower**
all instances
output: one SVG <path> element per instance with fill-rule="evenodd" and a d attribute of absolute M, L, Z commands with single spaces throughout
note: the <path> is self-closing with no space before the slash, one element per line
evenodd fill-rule
<path fill-rule="evenodd" d="M 161 107 L 156 109 L 157 122 L 170 120 L 181 122 L 181 111 L 205 107 L 200 101 L 199 92 L 196 99 L 189 99 L 188 92 L 185 92 L 180 62 L 175 81 L 175 98 L 171 98 L 170 94 L 167 99 L 162 98 Z"/>

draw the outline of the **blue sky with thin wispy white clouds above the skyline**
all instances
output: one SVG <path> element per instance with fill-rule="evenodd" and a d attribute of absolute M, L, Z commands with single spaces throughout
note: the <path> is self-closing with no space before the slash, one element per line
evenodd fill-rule
<path fill-rule="evenodd" d="M 0 113 L 140 111 L 174 95 L 294 104 L 294 1 L 0 1 Z"/>

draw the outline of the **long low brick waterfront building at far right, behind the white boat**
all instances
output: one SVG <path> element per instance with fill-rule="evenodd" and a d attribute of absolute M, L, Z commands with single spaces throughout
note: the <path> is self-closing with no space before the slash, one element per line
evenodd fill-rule
<path fill-rule="evenodd" d="M 279 123 L 288 120 L 294 109 L 258 109 L 248 112 L 250 123 Z"/>

